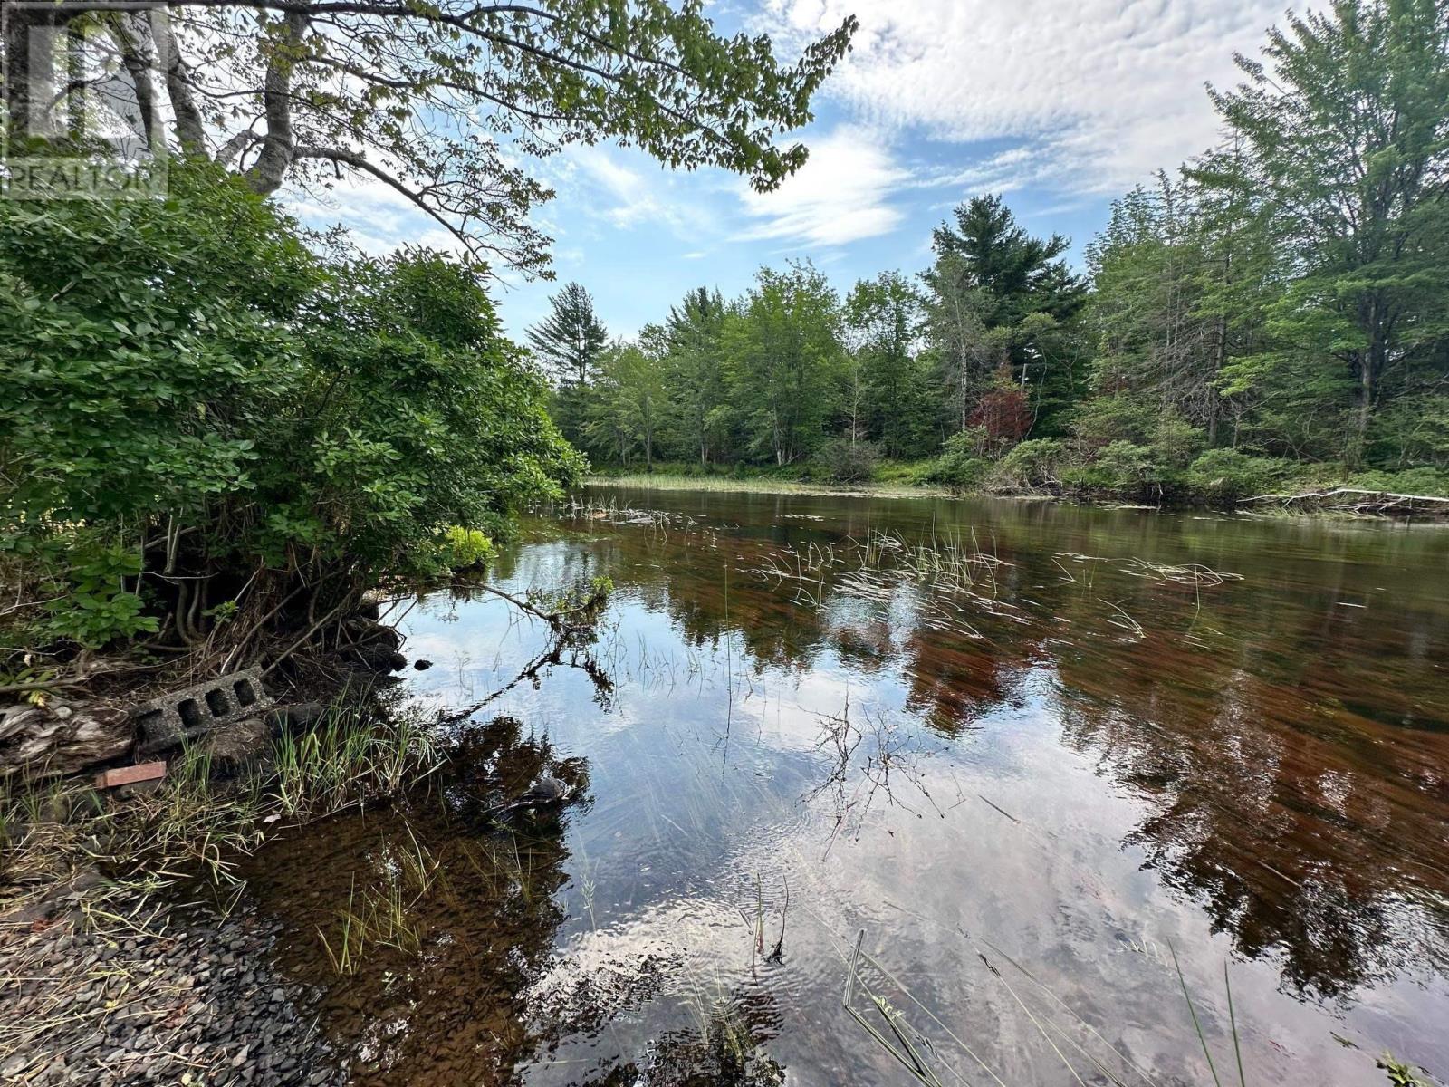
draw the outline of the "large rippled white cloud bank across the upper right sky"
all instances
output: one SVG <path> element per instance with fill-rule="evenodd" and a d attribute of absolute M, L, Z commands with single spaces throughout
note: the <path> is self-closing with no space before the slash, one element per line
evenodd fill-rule
<path fill-rule="evenodd" d="M 1213 142 L 1203 84 L 1235 81 L 1284 0 L 767 0 L 790 46 L 855 13 L 824 94 L 865 125 L 969 143 L 1026 141 L 985 186 L 1119 190 Z"/>

